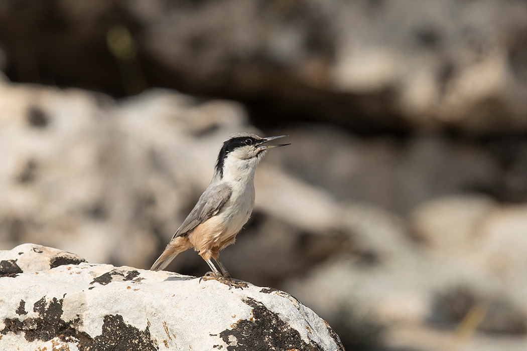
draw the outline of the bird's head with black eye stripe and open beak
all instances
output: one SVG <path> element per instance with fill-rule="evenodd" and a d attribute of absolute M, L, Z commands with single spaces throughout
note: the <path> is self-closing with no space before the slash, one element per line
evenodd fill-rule
<path fill-rule="evenodd" d="M 271 140 L 285 137 L 287 135 L 270 136 L 261 138 L 251 133 L 236 133 L 229 136 L 223 142 L 216 163 L 216 173 L 223 176 L 225 167 L 255 168 L 260 159 L 270 148 L 286 146 L 290 144 L 264 145 Z"/>

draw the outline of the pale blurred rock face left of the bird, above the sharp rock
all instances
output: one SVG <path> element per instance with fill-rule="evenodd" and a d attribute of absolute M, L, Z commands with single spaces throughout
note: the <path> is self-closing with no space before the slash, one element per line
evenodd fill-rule
<path fill-rule="evenodd" d="M 36 240 L 93 262 L 148 266 L 245 121 L 236 104 L 173 93 L 118 106 L 74 89 L 0 89 L 1 245 Z"/>

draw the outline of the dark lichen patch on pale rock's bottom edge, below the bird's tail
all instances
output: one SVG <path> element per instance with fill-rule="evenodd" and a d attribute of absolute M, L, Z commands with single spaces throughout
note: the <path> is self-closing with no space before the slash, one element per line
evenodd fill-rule
<path fill-rule="evenodd" d="M 134 326 L 125 324 L 120 315 L 104 316 L 102 334 L 93 339 L 93 343 L 81 348 L 82 351 L 95 350 L 134 350 L 134 351 L 157 351 L 150 336 L 147 326 L 139 330 Z"/>

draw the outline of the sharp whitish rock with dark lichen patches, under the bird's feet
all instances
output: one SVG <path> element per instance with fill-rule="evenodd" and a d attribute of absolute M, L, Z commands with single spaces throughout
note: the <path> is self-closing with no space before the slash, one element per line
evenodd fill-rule
<path fill-rule="evenodd" d="M 275 289 L 89 264 L 34 244 L 0 260 L 11 267 L 0 277 L 2 350 L 344 350 L 323 319 Z"/>

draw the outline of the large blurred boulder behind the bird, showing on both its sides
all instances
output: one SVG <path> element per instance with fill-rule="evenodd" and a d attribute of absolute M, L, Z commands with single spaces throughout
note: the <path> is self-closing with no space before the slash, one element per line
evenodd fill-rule
<path fill-rule="evenodd" d="M 171 91 L 116 103 L 78 89 L 0 89 L 4 248 L 32 240 L 90 261 L 150 267 L 210 182 L 221 143 L 239 131 L 261 134 L 239 104 Z M 368 241 L 334 196 L 272 159 L 259 166 L 255 183 L 256 216 L 240 234 L 245 244 L 222 253 L 233 275 L 279 284 L 342 247 L 357 250 L 353 233 Z M 262 247 L 269 256 L 259 254 Z M 207 266 L 190 250 L 174 268 L 199 274 Z"/>

